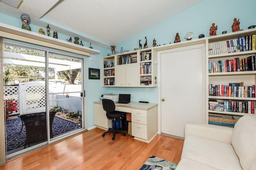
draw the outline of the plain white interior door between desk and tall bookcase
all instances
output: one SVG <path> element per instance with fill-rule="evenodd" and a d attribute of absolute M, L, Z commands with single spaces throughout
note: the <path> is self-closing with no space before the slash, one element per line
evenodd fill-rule
<path fill-rule="evenodd" d="M 159 51 L 158 58 L 161 133 L 184 137 L 187 121 L 205 122 L 205 45 Z"/>

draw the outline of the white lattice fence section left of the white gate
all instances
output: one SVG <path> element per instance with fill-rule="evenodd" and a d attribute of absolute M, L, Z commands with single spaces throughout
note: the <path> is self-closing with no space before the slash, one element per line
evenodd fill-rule
<path fill-rule="evenodd" d="M 13 99 L 18 105 L 18 110 L 12 112 L 10 115 L 20 113 L 20 102 L 19 102 L 19 87 L 18 86 L 4 86 L 4 100 Z"/>

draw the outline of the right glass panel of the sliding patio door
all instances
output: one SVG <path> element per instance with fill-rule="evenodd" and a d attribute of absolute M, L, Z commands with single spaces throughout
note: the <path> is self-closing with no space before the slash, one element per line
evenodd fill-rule
<path fill-rule="evenodd" d="M 49 53 L 49 110 L 56 112 L 52 124 L 54 138 L 82 128 L 82 64 L 82 59 Z"/>

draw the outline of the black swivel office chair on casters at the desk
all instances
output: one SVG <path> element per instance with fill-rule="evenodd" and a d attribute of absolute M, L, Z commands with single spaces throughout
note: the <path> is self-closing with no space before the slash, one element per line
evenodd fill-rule
<path fill-rule="evenodd" d="M 109 99 L 102 99 L 102 106 L 103 106 L 103 109 L 106 111 L 106 116 L 108 117 L 108 119 L 114 120 L 113 122 L 114 127 L 109 128 L 108 131 L 102 134 L 102 136 L 104 137 L 106 133 L 113 133 L 112 140 L 115 140 L 116 132 L 122 133 L 125 136 L 126 133 L 124 131 L 120 131 L 116 129 L 116 120 L 124 119 L 126 117 L 126 112 L 115 111 L 116 109 L 115 103 Z"/>

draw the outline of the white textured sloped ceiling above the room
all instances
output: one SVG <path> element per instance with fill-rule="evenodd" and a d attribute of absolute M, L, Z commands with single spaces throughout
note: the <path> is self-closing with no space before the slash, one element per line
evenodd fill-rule
<path fill-rule="evenodd" d="M 18 9 L 0 2 L 0 13 L 18 19 L 26 13 L 30 24 L 44 29 L 49 24 L 51 31 L 109 48 L 201 1 L 24 0 Z"/>

